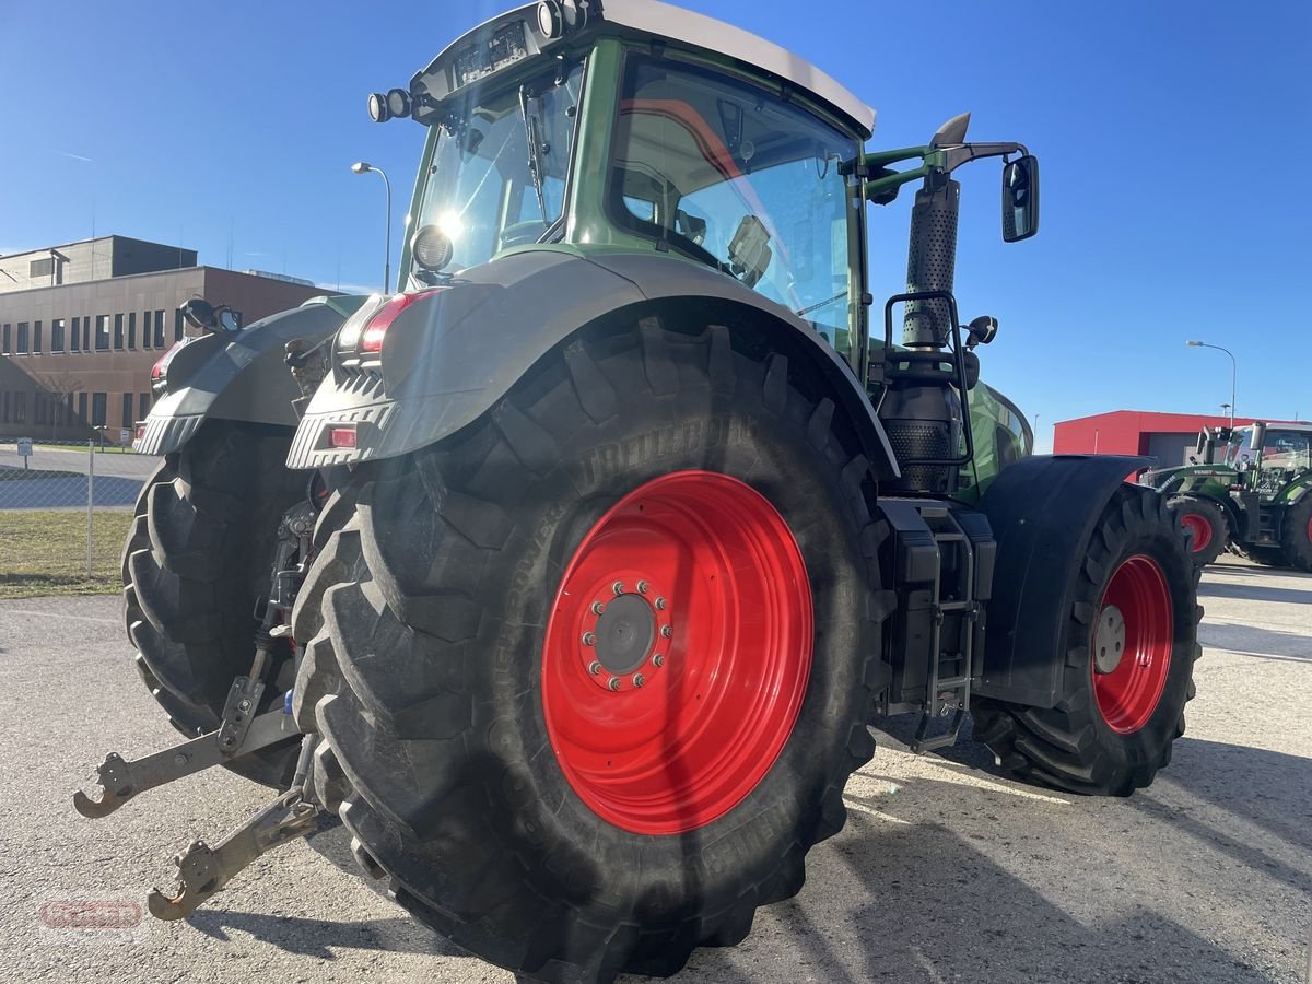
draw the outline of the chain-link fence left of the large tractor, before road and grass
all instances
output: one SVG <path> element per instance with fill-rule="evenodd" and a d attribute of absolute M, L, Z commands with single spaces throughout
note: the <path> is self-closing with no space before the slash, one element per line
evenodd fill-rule
<path fill-rule="evenodd" d="M 117 592 L 136 493 L 159 458 L 0 441 L 0 598 Z"/>

